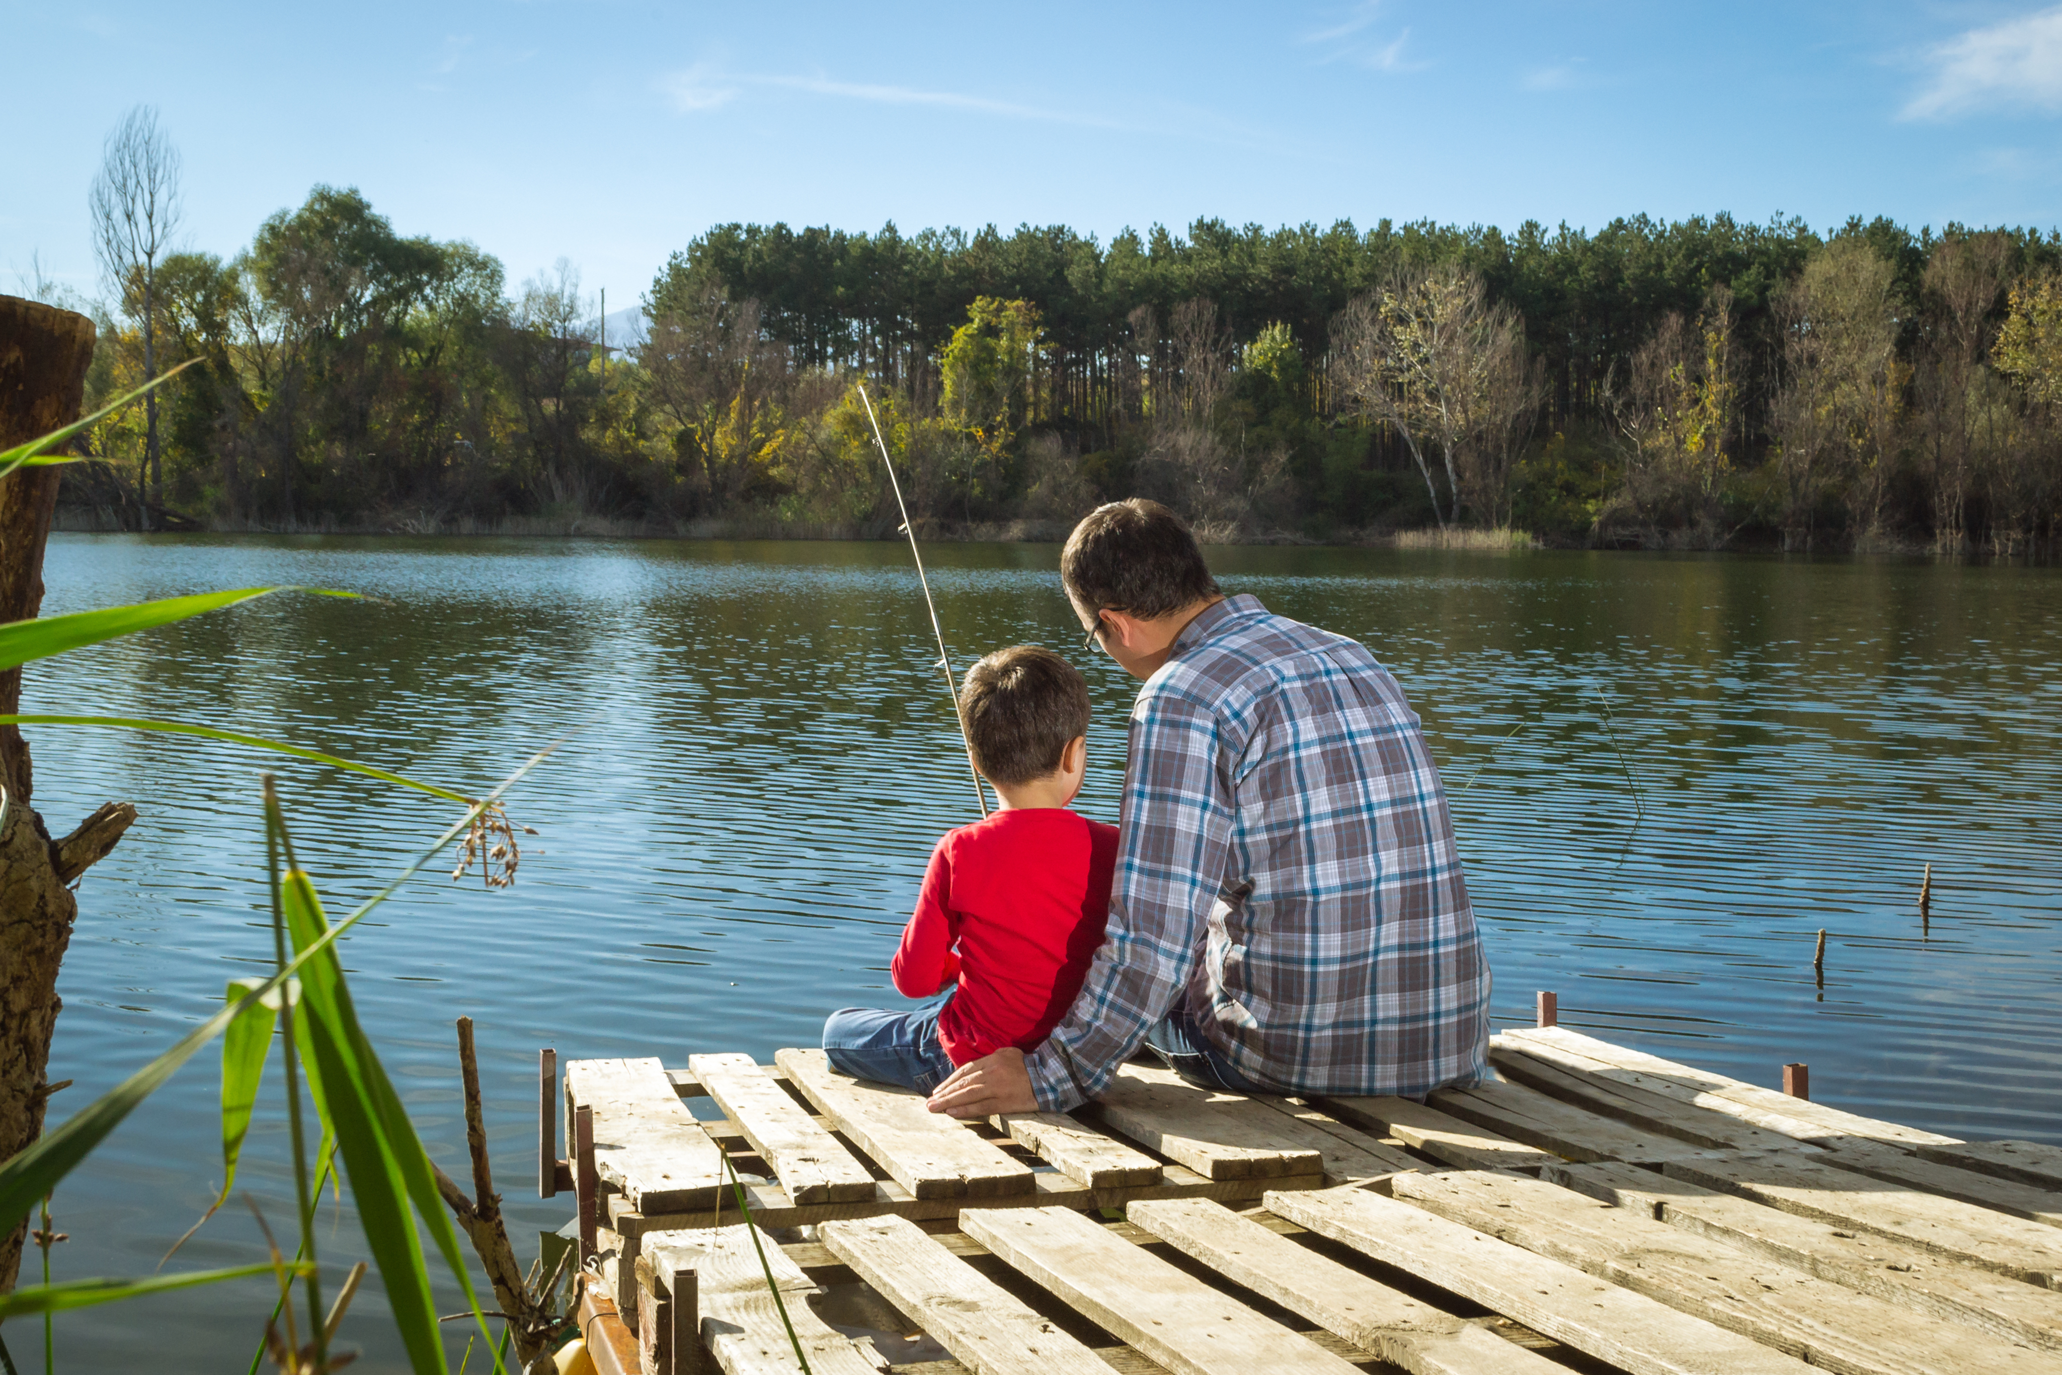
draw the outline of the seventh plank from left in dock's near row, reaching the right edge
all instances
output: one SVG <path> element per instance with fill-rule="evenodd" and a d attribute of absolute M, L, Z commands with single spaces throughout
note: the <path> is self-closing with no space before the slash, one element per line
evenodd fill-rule
<path fill-rule="evenodd" d="M 2048 1288 L 1631 1165 L 1561 1165 L 1546 1179 L 1936 1321 L 2062 1350 L 2062 1295 Z"/>

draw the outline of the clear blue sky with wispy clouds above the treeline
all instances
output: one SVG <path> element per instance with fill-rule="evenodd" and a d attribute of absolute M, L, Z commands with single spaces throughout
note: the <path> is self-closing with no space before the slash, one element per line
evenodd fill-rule
<path fill-rule="evenodd" d="M 97 291 L 87 186 L 159 107 L 186 241 L 318 181 L 629 305 L 713 223 L 1202 214 L 2062 223 L 2062 6 L 0 0 L 0 291 Z M 23 113 L 29 111 L 29 113 Z"/>

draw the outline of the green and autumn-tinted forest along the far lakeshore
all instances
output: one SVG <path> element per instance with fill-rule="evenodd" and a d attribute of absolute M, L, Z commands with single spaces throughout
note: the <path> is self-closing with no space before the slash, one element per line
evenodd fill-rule
<path fill-rule="evenodd" d="M 720 225 L 598 338 L 315 188 L 99 307 L 62 524 L 1052 538 L 1153 495 L 1210 540 L 2050 548 L 2062 235 L 1854 219 L 1602 229 Z M 89 398 L 91 400 L 91 398 Z"/>

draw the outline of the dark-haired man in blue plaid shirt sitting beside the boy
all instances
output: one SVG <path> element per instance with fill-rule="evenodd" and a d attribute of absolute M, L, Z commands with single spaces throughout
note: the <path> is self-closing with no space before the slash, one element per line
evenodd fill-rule
<path fill-rule="evenodd" d="M 1485 1074 L 1489 965 L 1419 717 L 1351 639 L 1217 590 L 1153 501 L 1060 555 L 1132 707 L 1109 928 L 1029 1055 L 959 1066 L 955 1117 L 1066 1111 L 1140 1045 L 1233 1093 L 1423 1097 Z"/>

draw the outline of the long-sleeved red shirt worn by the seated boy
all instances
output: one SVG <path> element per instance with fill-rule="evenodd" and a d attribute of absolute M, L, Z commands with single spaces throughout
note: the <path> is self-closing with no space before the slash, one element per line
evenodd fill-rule
<path fill-rule="evenodd" d="M 1116 866 L 1118 829 L 1064 806 L 996 812 L 938 841 L 889 971 L 905 998 L 959 979 L 938 1016 L 953 1064 L 1029 1051 L 1066 1016 L 1103 944 Z"/>

